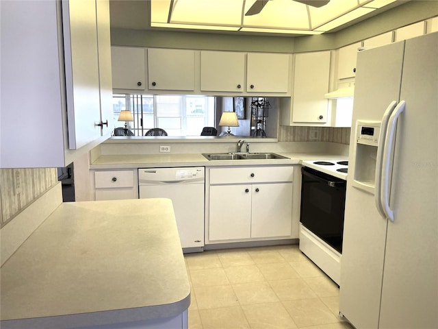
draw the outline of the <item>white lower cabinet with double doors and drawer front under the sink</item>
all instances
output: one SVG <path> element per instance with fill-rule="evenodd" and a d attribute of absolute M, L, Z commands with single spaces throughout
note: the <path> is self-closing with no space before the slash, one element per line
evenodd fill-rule
<path fill-rule="evenodd" d="M 209 170 L 210 243 L 290 239 L 293 167 Z"/>

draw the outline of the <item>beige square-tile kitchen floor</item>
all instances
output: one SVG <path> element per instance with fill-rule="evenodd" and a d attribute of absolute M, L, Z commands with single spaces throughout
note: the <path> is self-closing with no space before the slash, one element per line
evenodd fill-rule
<path fill-rule="evenodd" d="M 350 329 L 339 289 L 298 245 L 185 254 L 189 329 Z"/>

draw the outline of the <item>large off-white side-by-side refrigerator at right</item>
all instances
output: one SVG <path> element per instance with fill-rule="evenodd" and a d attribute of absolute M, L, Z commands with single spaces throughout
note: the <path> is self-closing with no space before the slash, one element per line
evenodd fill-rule
<path fill-rule="evenodd" d="M 358 53 L 352 120 L 340 313 L 438 328 L 438 33 Z"/>

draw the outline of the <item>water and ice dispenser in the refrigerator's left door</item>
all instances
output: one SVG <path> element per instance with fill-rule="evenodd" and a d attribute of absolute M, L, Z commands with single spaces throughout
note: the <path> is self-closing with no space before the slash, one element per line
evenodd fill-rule
<path fill-rule="evenodd" d="M 380 121 L 356 122 L 356 159 L 352 185 L 374 194 Z"/>

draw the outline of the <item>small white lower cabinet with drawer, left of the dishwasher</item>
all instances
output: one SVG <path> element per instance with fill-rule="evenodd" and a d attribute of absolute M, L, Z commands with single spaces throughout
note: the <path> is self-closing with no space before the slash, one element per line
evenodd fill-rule
<path fill-rule="evenodd" d="M 133 170 L 94 171 L 96 201 L 137 199 Z"/>

